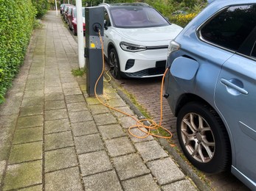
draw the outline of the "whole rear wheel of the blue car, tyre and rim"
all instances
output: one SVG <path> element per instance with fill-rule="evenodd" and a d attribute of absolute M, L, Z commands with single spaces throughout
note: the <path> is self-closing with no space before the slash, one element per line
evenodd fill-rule
<path fill-rule="evenodd" d="M 220 173 L 230 167 L 229 136 L 221 118 L 210 106 L 198 102 L 184 105 L 176 128 L 184 155 L 198 170 Z"/>

